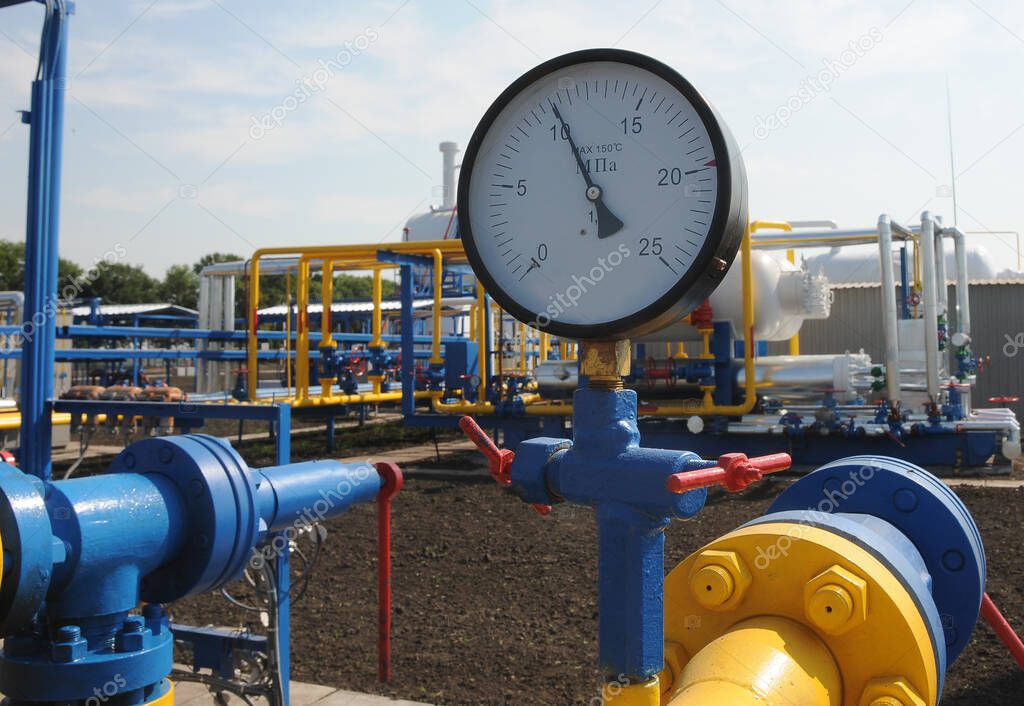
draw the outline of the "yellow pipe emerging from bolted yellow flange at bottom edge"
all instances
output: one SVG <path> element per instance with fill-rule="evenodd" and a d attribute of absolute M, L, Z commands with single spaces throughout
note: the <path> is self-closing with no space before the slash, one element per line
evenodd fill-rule
<path fill-rule="evenodd" d="M 843 679 L 828 647 L 785 618 L 734 625 L 686 663 L 667 706 L 841 706 Z"/>

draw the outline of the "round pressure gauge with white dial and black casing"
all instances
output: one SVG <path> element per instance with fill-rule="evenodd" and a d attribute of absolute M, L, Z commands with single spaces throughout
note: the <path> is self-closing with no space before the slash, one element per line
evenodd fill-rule
<path fill-rule="evenodd" d="M 527 72 L 487 110 L 458 213 L 504 309 L 560 336 L 625 337 L 678 321 L 721 282 L 746 225 L 746 176 L 686 79 L 589 49 Z"/>

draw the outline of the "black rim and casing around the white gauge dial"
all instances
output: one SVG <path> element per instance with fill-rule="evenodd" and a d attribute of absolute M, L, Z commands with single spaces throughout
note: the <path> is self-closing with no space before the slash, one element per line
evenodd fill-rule
<path fill-rule="evenodd" d="M 611 61 L 645 70 L 671 84 L 693 106 L 711 137 L 718 167 L 715 213 L 703 246 L 693 264 L 654 302 L 627 317 L 600 324 L 569 324 L 530 312 L 498 285 L 476 248 L 469 215 L 470 184 L 480 146 L 502 111 L 520 93 L 546 76 L 579 64 Z M 584 49 L 552 58 L 516 79 L 483 114 L 466 148 L 458 190 L 459 234 L 473 272 L 498 304 L 521 322 L 566 338 L 610 339 L 642 335 L 679 321 L 715 290 L 739 249 L 748 223 L 746 174 L 742 158 L 728 128 L 712 105 L 671 67 L 645 54 L 624 49 Z M 541 325 L 540 319 L 548 323 Z"/>

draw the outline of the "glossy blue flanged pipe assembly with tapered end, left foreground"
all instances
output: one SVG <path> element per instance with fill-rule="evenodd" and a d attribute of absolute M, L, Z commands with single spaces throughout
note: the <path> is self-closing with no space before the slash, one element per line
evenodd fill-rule
<path fill-rule="evenodd" d="M 382 485 L 369 463 L 250 469 L 202 434 L 140 441 L 105 473 L 71 481 L 0 464 L 0 693 L 82 702 L 115 683 L 123 706 L 160 698 L 173 657 L 160 604 L 219 588 L 264 540 L 371 502 Z"/>

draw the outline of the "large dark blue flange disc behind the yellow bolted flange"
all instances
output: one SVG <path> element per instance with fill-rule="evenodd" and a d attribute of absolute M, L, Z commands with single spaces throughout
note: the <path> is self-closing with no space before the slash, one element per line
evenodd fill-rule
<path fill-rule="evenodd" d="M 885 456 L 833 461 L 782 492 L 769 512 L 869 514 L 910 540 L 932 577 L 948 663 L 967 647 L 985 592 L 985 549 L 967 507 L 920 466 Z"/>

